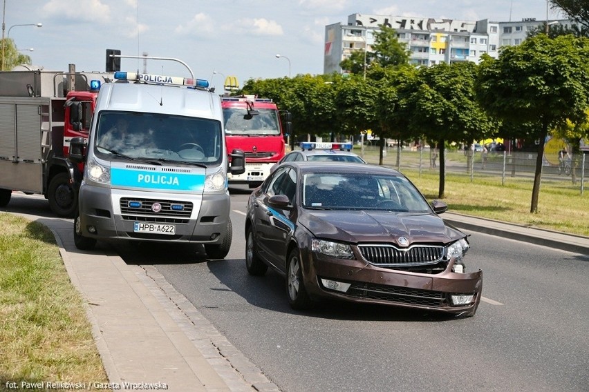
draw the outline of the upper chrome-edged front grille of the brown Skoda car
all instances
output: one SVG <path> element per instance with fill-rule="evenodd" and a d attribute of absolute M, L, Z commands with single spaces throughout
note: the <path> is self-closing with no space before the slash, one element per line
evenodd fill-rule
<path fill-rule="evenodd" d="M 443 246 L 415 245 L 400 249 L 393 245 L 359 245 L 358 248 L 367 262 L 380 267 L 433 265 L 444 256 Z"/>

